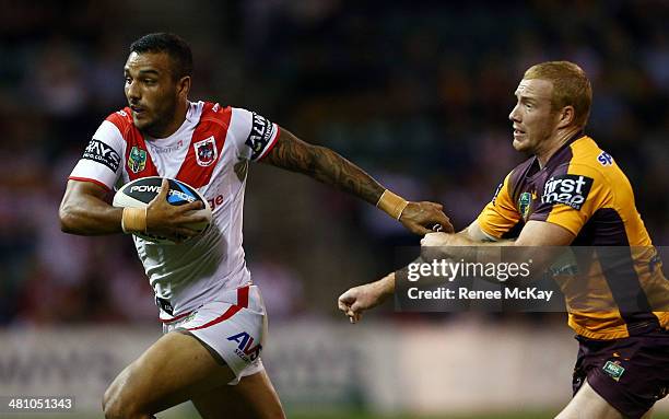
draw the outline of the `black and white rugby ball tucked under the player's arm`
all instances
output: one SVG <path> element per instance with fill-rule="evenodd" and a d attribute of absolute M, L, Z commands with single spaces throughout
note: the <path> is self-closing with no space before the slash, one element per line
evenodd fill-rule
<path fill-rule="evenodd" d="M 188 224 L 189 229 L 198 232 L 203 232 L 211 223 L 211 207 L 209 202 L 198 190 L 184 182 L 167 178 L 169 190 L 167 191 L 167 202 L 173 206 L 181 206 L 195 201 L 204 203 L 204 209 L 198 210 L 207 216 L 207 221 L 200 223 Z M 114 195 L 114 207 L 144 208 L 161 193 L 163 177 L 149 176 L 134 179 L 121 186 Z M 174 241 L 167 237 L 161 237 L 153 234 L 133 233 L 151 243 L 157 244 L 175 244 Z"/>

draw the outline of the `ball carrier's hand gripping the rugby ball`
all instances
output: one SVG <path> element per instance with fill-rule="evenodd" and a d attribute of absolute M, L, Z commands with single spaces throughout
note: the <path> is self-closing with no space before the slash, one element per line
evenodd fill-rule
<path fill-rule="evenodd" d="M 198 231 L 187 228 L 187 224 L 207 221 L 207 217 L 196 211 L 203 209 L 200 201 L 173 206 L 167 202 L 169 183 L 163 179 L 161 193 L 153 198 L 146 208 L 146 233 L 160 235 L 183 242 L 199 234 Z"/>

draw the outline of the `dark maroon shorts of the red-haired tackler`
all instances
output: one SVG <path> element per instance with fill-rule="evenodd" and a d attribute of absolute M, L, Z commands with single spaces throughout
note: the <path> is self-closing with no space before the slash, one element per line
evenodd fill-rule
<path fill-rule="evenodd" d="M 669 331 L 656 330 L 614 340 L 576 336 L 578 358 L 574 394 L 586 377 L 623 416 L 641 418 L 669 388 Z"/>

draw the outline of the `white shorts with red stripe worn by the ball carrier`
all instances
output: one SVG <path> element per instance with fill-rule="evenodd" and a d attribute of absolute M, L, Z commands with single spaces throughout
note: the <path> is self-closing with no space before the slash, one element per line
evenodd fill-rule
<path fill-rule="evenodd" d="M 164 321 L 163 333 L 175 329 L 188 330 L 214 350 L 235 373 L 231 385 L 265 369 L 260 351 L 267 336 L 267 313 L 256 286 L 225 291 L 191 313 Z"/>

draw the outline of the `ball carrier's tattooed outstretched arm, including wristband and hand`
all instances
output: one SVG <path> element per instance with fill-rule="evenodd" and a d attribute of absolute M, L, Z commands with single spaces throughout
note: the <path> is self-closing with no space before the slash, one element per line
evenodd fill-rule
<path fill-rule="evenodd" d="M 334 151 L 306 143 L 286 129 L 281 129 L 277 144 L 262 162 L 303 173 L 355 195 L 396 218 L 415 234 L 426 234 L 436 224 L 442 225 L 444 231 L 453 232 L 453 225 L 441 205 L 409 202 Z"/>

